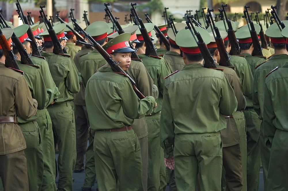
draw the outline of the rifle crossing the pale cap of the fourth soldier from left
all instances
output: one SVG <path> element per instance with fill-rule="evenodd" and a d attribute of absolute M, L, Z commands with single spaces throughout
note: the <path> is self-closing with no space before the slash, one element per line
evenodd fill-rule
<path fill-rule="evenodd" d="M 60 42 L 58 40 L 58 37 L 57 37 L 53 27 L 52 27 L 52 24 L 51 24 L 50 20 L 47 19 L 43 8 L 45 8 L 45 5 L 44 6 L 40 5 L 40 9 L 41 10 L 39 11 L 39 13 L 40 13 L 39 18 L 43 19 L 43 22 L 44 22 L 44 24 L 45 24 L 45 26 L 46 26 L 46 28 L 48 30 L 50 38 L 52 39 L 52 43 L 53 43 L 53 46 L 54 46 L 53 47 L 53 53 L 54 54 L 64 54 L 63 49 L 62 49 L 62 45 L 60 44 Z"/>

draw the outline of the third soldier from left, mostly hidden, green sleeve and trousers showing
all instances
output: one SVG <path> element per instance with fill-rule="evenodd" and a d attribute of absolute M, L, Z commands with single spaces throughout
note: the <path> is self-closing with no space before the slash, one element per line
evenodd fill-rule
<path fill-rule="evenodd" d="M 41 37 L 38 36 L 40 32 L 39 22 L 31 26 L 31 30 L 35 36 L 35 39 Z M 21 33 L 21 32 L 20 32 Z M 17 34 L 16 34 L 17 35 Z M 40 73 L 43 77 L 46 88 L 51 89 L 54 92 L 54 100 L 58 99 L 60 94 L 58 87 L 56 87 L 51 73 L 49 71 L 49 66 L 44 57 L 31 55 L 31 60 L 37 66 L 39 66 Z M 43 171 L 43 182 L 41 189 L 43 190 L 56 190 L 55 183 L 55 149 L 54 149 L 54 137 L 52 130 L 52 121 L 47 108 L 37 111 L 37 123 L 40 128 L 41 140 L 42 140 L 42 150 L 43 150 L 43 161 L 44 161 L 44 171 Z"/>

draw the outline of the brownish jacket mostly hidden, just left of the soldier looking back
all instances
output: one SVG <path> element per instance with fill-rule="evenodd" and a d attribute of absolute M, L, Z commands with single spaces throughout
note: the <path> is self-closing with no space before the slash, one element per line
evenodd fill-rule
<path fill-rule="evenodd" d="M 74 56 L 74 63 L 76 68 L 78 69 L 78 75 L 81 77 L 81 68 L 80 68 L 80 57 L 92 52 L 93 49 L 87 48 L 86 46 L 82 46 L 81 50 L 77 52 Z M 79 106 L 85 106 L 85 86 L 83 83 L 83 79 L 81 77 L 81 82 L 80 82 L 80 90 L 78 93 L 75 95 L 75 104 Z"/>

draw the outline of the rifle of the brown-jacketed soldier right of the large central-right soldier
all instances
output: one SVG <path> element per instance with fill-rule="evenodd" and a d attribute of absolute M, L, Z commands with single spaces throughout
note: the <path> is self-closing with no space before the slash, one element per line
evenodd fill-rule
<path fill-rule="evenodd" d="M 226 67 L 227 66 L 231 66 L 230 61 L 229 61 L 231 58 L 229 57 L 228 52 L 226 51 L 223 39 L 222 39 L 221 34 L 220 34 L 220 31 L 219 31 L 218 27 L 215 25 L 215 23 L 213 21 L 213 17 L 212 17 L 212 14 L 211 14 L 211 12 L 213 12 L 213 11 L 214 11 L 214 9 L 209 9 L 209 8 L 207 9 L 207 12 L 208 12 L 207 19 L 208 19 L 208 22 L 210 24 L 211 29 L 212 29 L 212 26 L 213 26 L 213 30 L 215 31 L 215 34 L 216 34 L 216 36 L 215 36 L 215 34 L 214 34 L 213 30 L 212 30 L 213 36 L 215 38 L 215 42 L 217 44 L 217 48 L 219 50 L 219 55 L 220 55 L 219 64 L 221 66 L 226 66 Z M 212 22 L 212 25 L 211 25 L 211 22 Z"/>

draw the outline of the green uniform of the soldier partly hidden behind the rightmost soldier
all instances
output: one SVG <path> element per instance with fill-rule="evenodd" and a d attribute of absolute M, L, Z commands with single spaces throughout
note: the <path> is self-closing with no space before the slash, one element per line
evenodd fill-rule
<path fill-rule="evenodd" d="M 264 188 L 267 188 L 267 174 L 270 158 L 270 148 L 267 147 L 265 144 L 264 129 L 263 129 L 264 87 L 266 80 L 265 76 L 277 66 L 282 67 L 282 65 L 287 61 L 288 61 L 287 54 L 273 55 L 269 61 L 261 65 L 258 65 L 254 74 L 253 106 L 255 112 L 259 115 L 259 120 L 261 120 L 260 147 L 261 147 L 261 160 L 263 166 Z M 256 176 L 256 170 L 255 170 L 255 176 Z"/>

